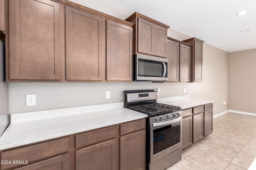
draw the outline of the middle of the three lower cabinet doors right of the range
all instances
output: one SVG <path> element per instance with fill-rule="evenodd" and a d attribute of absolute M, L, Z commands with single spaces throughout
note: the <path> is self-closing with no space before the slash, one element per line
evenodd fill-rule
<path fill-rule="evenodd" d="M 193 117 L 193 143 L 204 138 L 204 112 L 192 115 Z"/>

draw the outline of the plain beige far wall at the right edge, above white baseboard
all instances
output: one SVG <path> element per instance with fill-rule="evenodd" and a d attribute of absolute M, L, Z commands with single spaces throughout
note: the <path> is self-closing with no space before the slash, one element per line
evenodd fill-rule
<path fill-rule="evenodd" d="M 229 109 L 256 114 L 256 49 L 230 53 Z"/>

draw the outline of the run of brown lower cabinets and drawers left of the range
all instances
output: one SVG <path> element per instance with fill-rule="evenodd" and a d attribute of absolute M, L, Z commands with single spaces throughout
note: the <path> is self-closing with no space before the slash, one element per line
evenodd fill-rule
<path fill-rule="evenodd" d="M 145 170 L 146 120 L 0 150 L 0 170 Z M 22 162 L 23 161 L 23 162 Z"/>

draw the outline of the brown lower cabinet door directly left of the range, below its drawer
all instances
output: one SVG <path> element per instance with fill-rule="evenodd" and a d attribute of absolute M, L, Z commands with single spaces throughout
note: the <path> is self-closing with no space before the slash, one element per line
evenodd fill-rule
<path fill-rule="evenodd" d="M 146 131 L 120 137 L 120 169 L 144 170 L 146 168 Z"/>

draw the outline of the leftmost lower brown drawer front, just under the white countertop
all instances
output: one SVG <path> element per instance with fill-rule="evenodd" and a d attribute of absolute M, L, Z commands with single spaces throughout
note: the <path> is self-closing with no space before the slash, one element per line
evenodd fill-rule
<path fill-rule="evenodd" d="M 1 153 L 1 160 L 10 160 L 11 162 L 20 160 L 20 164 L 23 162 L 33 162 L 36 160 L 44 159 L 50 156 L 68 152 L 69 150 L 69 138 L 58 139 L 38 145 L 32 145 L 20 149 L 14 149 Z M 18 164 L 2 164 L 2 170 L 12 168 L 20 165 Z"/>

